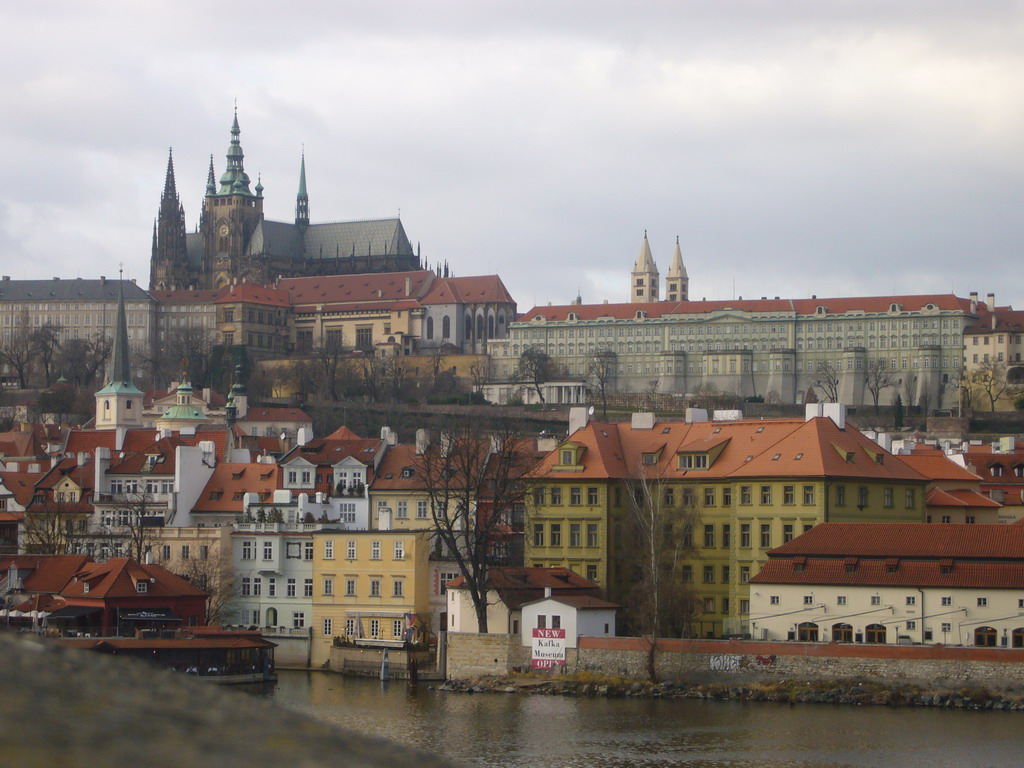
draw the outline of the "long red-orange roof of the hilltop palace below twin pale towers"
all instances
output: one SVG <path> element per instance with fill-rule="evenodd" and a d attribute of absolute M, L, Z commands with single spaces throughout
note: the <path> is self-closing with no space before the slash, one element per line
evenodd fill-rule
<path fill-rule="evenodd" d="M 825 307 L 827 314 L 839 314 L 852 310 L 865 312 L 888 312 L 890 304 L 900 304 L 904 309 L 922 309 L 928 304 L 946 310 L 969 312 L 971 302 L 952 294 L 928 294 L 921 296 L 863 296 L 850 298 L 822 299 L 727 299 L 722 301 L 656 301 L 637 304 L 565 304 L 561 306 L 538 306 L 519 317 L 529 322 L 536 317 L 564 322 L 569 312 L 580 319 L 592 321 L 602 317 L 632 319 L 638 311 L 647 317 L 664 317 L 671 314 L 705 314 L 722 309 L 743 312 L 773 312 L 783 314 L 817 314 L 819 306 Z"/>

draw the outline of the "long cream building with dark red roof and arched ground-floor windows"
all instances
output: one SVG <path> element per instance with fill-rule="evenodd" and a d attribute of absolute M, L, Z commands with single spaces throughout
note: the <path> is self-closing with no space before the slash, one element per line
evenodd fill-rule
<path fill-rule="evenodd" d="M 757 640 L 1024 647 L 1024 527 L 822 523 L 751 580 Z"/>

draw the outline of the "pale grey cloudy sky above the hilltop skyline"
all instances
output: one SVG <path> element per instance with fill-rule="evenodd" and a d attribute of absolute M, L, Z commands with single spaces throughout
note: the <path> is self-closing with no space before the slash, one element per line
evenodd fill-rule
<path fill-rule="evenodd" d="M 977 290 L 1024 308 L 1024 6 L 957 0 L 3 3 L 0 270 L 148 282 L 238 99 L 268 218 L 393 216 L 521 310 Z"/>

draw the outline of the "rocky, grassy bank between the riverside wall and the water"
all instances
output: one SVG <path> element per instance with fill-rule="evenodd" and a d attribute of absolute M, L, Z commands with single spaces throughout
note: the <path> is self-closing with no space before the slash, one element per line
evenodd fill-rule
<path fill-rule="evenodd" d="M 440 690 L 455 693 L 529 693 L 554 696 L 645 698 L 703 698 L 779 703 L 887 705 L 890 707 L 941 707 L 958 710 L 1024 712 L 1024 696 L 985 687 L 938 689 L 897 683 L 886 685 L 859 680 L 777 680 L 751 685 L 686 682 L 637 682 L 615 678 L 573 678 L 540 675 L 482 677 L 450 680 Z"/>

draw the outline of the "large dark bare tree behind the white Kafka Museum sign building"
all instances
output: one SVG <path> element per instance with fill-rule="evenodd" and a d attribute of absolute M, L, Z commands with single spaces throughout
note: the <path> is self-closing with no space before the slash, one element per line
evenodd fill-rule
<path fill-rule="evenodd" d="M 502 512 L 521 502 L 531 456 L 514 422 L 460 419 L 445 426 L 438 445 L 416 459 L 435 542 L 458 564 L 481 633 L 487 632 L 490 557 L 509 532 Z M 486 513 L 478 507 L 481 487 Z"/>

